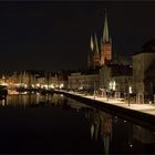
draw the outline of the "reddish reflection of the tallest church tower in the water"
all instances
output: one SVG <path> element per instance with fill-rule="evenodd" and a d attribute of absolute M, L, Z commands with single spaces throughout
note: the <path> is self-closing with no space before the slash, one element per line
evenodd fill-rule
<path fill-rule="evenodd" d="M 104 112 L 100 112 L 100 114 L 101 114 L 101 136 L 104 143 L 104 153 L 108 154 L 110 138 L 112 137 L 112 116 Z"/>

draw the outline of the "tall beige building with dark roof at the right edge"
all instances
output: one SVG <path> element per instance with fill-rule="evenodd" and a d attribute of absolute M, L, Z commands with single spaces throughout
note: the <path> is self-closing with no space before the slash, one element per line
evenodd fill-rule
<path fill-rule="evenodd" d="M 137 103 L 144 103 L 144 97 L 153 100 L 155 94 L 155 39 L 142 48 L 141 52 L 133 55 L 133 83 Z"/>

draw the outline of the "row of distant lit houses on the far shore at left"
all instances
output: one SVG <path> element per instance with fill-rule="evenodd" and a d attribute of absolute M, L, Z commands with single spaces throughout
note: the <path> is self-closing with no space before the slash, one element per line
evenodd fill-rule
<path fill-rule="evenodd" d="M 4 82 L 6 81 L 6 82 Z M 22 89 L 66 89 L 68 75 L 62 72 L 52 73 L 44 71 L 21 71 L 0 79 L 0 84 L 6 83 L 9 90 Z"/>

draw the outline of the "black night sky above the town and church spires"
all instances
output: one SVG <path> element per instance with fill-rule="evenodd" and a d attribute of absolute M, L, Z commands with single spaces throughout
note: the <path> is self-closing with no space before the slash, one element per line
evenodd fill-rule
<path fill-rule="evenodd" d="M 86 68 L 104 9 L 115 55 L 130 56 L 155 38 L 155 2 L 0 2 L 0 71 Z"/>

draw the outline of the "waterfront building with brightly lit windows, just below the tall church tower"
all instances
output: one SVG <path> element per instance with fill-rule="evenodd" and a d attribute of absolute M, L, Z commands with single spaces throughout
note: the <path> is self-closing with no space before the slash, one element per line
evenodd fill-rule
<path fill-rule="evenodd" d="M 132 92 L 132 66 L 123 64 L 107 64 L 100 69 L 100 89 L 121 94 Z"/>

